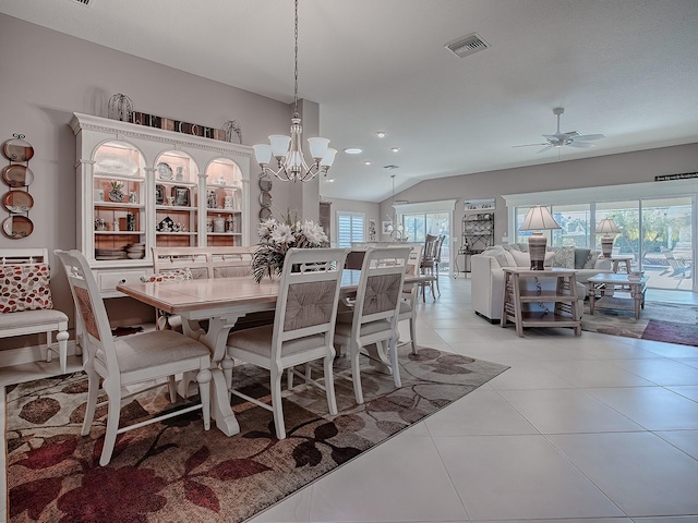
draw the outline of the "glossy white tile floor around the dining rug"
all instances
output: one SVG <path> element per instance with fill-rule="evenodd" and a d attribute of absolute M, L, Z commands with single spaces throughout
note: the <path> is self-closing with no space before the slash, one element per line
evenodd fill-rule
<path fill-rule="evenodd" d="M 441 287 L 420 344 L 512 368 L 253 522 L 698 523 L 698 348 L 517 338 L 471 311 L 469 280 Z"/>

